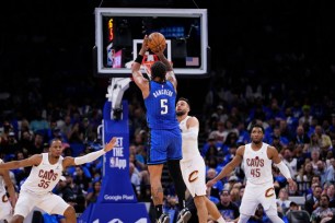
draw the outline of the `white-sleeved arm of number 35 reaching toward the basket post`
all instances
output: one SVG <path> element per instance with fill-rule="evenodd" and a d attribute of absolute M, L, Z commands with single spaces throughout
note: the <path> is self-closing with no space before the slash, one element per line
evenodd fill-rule
<path fill-rule="evenodd" d="M 116 144 L 116 138 L 113 137 L 111 141 L 105 145 L 104 149 L 101 149 L 99 151 L 95 151 L 95 152 L 92 152 L 92 153 L 89 153 L 89 154 L 85 154 L 79 157 L 71 157 L 71 156 L 65 157 L 62 162 L 62 166 L 63 168 L 67 168 L 68 166 L 81 165 L 84 163 L 90 163 L 92 161 L 95 161 L 100 156 L 104 155 L 106 152 L 109 152 L 111 150 L 113 150 L 115 144 Z"/>

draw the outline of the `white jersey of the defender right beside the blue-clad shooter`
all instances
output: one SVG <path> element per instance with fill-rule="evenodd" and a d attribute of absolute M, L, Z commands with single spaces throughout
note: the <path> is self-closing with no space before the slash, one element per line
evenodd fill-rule
<path fill-rule="evenodd" d="M 189 131 L 186 127 L 188 118 L 190 118 L 190 116 L 187 116 L 184 120 L 180 122 L 180 129 L 182 130 L 183 161 L 192 160 L 195 156 L 201 156 L 198 148 L 198 139 L 188 139 L 183 137 L 184 133 L 187 133 Z"/>

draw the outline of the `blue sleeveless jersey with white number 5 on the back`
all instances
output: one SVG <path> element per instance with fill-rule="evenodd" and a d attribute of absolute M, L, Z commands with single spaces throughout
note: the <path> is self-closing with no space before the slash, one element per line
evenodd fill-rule
<path fill-rule="evenodd" d="M 164 83 L 150 81 L 150 93 L 145 99 L 149 128 L 178 128 L 178 121 L 175 115 L 175 99 L 176 92 L 170 81 Z"/>

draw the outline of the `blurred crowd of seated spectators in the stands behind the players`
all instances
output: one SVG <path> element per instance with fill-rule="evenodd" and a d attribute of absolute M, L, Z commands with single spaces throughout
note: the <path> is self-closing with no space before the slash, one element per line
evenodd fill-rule
<path fill-rule="evenodd" d="M 267 92 L 252 86 L 245 94 L 235 95 L 229 90 L 208 91 L 204 107 L 197 114 L 200 122 L 199 151 L 206 162 L 207 179 L 212 178 L 232 160 L 236 149 L 250 142 L 250 127 L 254 122 L 265 128 L 264 141 L 277 148 L 284 162 L 298 183 L 289 188 L 285 177 L 274 168 L 274 181 L 278 196 L 278 212 L 286 216 L 291 209 L 307 210 L 311 219 L 320 222 L 334 212 L 335 181 L 335 113 L 334 103 L 279 99 L 268 97 Z M 42 92 L 41 92 L 42 95 Z M 129 177 L 139 201 L 150 202 L 150 181 L 146 165 L 147 125 L 140 95 L 128 95 L 129 105 Z M 11 99 L 11 98 L 10 98 Z M 62 104 L 48 102 L 34 107 L 32 113 L 8 110 L 1 119 L 0 154 L 4 161 L 22 160 L 30 155 L 47 152 L 53 138 L 63 141 L 63 155 L 78 156 L 101 148 L 97 127 L 102 124 L 102 106 L 90 103 L 92 98 Z M 35 97 L 36 103 L 38 98 Z M 43 103 L 41 103 L 43 104 Z M 28 110 L 28 109 L 27 109 Z M 19 113 L 20 111 L 20 113 Z M 72 202 L 78 213 L 90 202 L 95 202 L 101 188 L 102 160 L 66 169 L 55 192 Z M 20 186 L 30 169 L 14 169 L 12 180 Z M 174 213 L 178 202 L 170 178 L 165 180 L 165 209 Z M 239 216 L 239 204 L 243 196 L 245 178 L 243 166 L 231 176 L 209 188 L 209 198 L 217 203 L 226 220 Z M 290 197 L 305 198 L 303 204 L 289 200 Z M 262 207 L 255 213 L 255 222 L 266 222 Z M 327 214 L 325 214 L 327 213 Z M 259 220 L 259 218 L 262 220 Z M 317 221 L 316 221 L 317 220 Z"/>

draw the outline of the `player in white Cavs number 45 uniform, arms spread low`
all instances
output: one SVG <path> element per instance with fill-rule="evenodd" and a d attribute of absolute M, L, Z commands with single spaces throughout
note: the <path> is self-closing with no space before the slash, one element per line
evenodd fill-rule
<path fill-rule="evenodd" d="M 254 125 L 251 129 L 252 143 L 240 146 L 234 159 L 213 179 L 207 183 L 207 186 L 211 187 L 243 162 L 246 186 L 240 207 L 239 223 L 247 222 L 250 216 L 254 215 L 258 203 L 263 206 L 272 222 L 284 222 L 277 212 L 274 177 L 272 174 L 273 163 L 286 177 L 290 187 L 293 187 L 296 184 L 291 178 L 289 168 L 280 160 L 276 148 L 264 143 L 263 138 L 263 126 Z"/>

